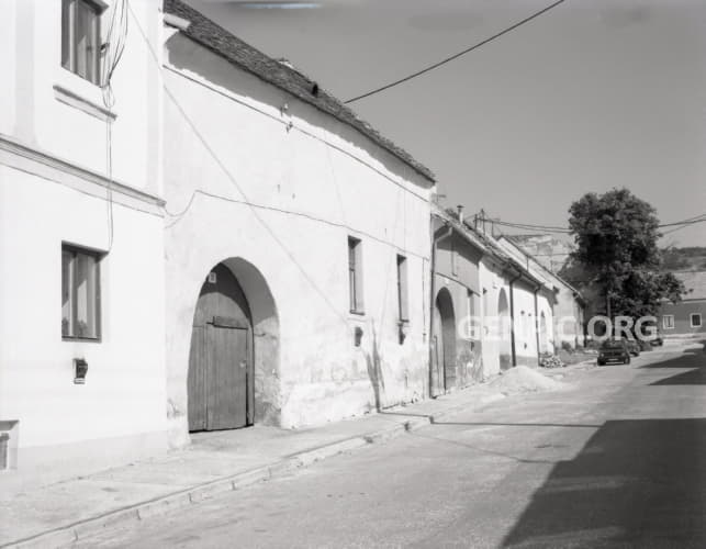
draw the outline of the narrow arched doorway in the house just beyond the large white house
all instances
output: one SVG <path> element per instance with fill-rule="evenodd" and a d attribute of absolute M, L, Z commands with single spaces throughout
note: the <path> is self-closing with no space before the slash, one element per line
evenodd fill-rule
<path fill-rule="evenodd" d="M 430 393 L 434 396 L 456 384 L 456 316 L 453 300 L 446 288 L 436 296 L 433 345 Z"/>

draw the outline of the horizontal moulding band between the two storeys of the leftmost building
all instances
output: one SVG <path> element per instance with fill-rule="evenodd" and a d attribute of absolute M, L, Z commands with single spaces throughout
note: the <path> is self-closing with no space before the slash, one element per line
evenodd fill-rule
<path fill-rule="evenodd" d="M 125 183 L 110 180 L 101 173 L 57 158 L 4 134 L 0 134 L 0 165 L 100 199 L 107 199 L 110 190 L 115 203 L 164 217 L 165 201 L 163 199 Z"/>

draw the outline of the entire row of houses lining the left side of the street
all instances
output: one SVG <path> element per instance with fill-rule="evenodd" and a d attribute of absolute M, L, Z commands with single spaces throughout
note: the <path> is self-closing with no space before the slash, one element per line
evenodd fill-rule
<path fill-rule="evenodd" d="M 352 417 L 580 343 L 578 292 L 181 1 L 0 14 L 3 482 Z"/>

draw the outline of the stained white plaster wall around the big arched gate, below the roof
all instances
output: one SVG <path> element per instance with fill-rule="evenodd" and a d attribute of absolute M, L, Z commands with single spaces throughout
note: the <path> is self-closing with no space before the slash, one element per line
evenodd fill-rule
<path fill-rule="evenodd" d="M 253 264 L 274 298 L 281 425 L 372 410 L 366 357 L 373 355 L 373 334 L 382 404 L 423 397 L 432 184 L 357 131 L 186 37 L 175 35 L 167 49 L 166 83 L 179 103 L 166 100 L 165 111 L 172 442 L 186 441 L 197 295 L 209 270 L 231 257 Z M 348 312 L 348 235 L 362 242 L 362 317 Z M 408 261 L 411 322 L 403 345 L 396 254 Z M 356 326 L 365 332 L 360 348 Z"/>

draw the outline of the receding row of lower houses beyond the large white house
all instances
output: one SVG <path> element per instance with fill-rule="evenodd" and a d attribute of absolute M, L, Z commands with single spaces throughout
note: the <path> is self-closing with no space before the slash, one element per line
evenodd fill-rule
<path fill-rule="evenodd" d="M 433 209 L 432 394 L 553 352 L 551 273 L 504 237 Z"/>

